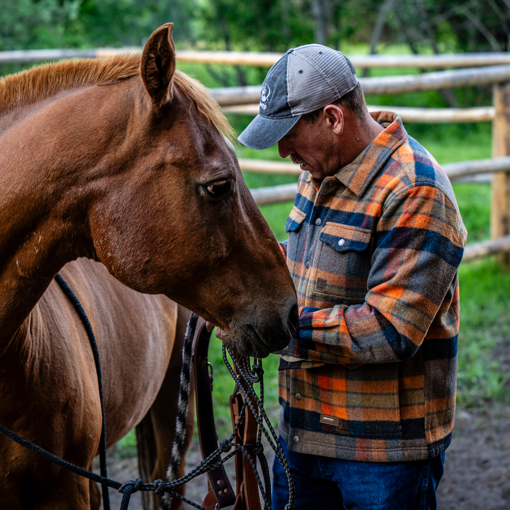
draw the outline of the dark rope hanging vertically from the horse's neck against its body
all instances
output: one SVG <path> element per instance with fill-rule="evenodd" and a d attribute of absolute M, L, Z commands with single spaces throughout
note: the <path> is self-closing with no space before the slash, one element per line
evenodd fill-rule
<path fill-rule="evenodd" d="M 82 303 L 78 300 L 74 292 L 67 285 L 64 278 L 59 273 L 55 276 L 55 280 L 60 285 L 60 288 L 64 291 L 69 301 L 71 301 L 74 310 L 78 313 L 80 319 L 82 319 L 87 336 L 89 337 L 90 347 L 92 347 L 92 354 L 94 355 L 94 363 L 96 366 L 97 373 L 97 385 L 99 387 L 99 400 L 101 402 L 101 419 L 103 424 L 101 425 L 101 438 L 99 439 L 99 466 L 101 476 L 108 478 L 108 472 L 106 467 L 106 419 L 105 419 L 105 402 L 103 397 L 103 378 L 101 377 L 101 362 L 99 360 L 99 350 L 97 349 L 97 342 L 95 341 L 94 331 L 90 325 L 89 318 L 82 307 Z M 103 508 L 104 510 L 110 510 L 110 494 L 108 493 L 108 485 L 101 484 L 101 492 L 103 493 Z"/>

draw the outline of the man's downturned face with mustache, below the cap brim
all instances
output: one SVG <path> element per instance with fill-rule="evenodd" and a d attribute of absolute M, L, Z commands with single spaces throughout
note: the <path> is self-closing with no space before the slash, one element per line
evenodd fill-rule
<path fill-rule="evenodd" d="M 301 170 L 309 171 L 316 179 L 334 175 L 339 168 L 339 151 L 322 115 L 315 123 L 300 118 L 278 141 L 278 152 L 282 158 L 290 156 Z"/>

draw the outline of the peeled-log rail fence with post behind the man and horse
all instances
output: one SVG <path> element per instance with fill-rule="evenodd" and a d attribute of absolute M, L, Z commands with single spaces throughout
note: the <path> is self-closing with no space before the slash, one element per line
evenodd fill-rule
<path fill-rule="evenodd" d="M 0 63 L 37 62 L 75 57 L 106 57 L 119 53 L 140 53 L 140 48 L 44 49 L 0 52 Z M 181 62 L 231 64 L 269 67 L 282 54 L 257 52 L 196 52 L 177 50 Z M 413 67 L 419 69 L 460 69 L 359 78 L 365 95 L 401 94 L 425 90 L 478 85 L 493 86 L 493 106 L 478 108 L 407 108 L 369 106 L 370 111 L 389 109 L 408 122 L 479 122 L 493 123 L 493 159 L 444 165 L 451 179 L 461 176 L 494 173 L 491 197 L 491 240 L 469 245 L 463 260 L 472 260 L 491 253 L 505 253 L 508 264 L 510 251 L 510 53 L 476 53 L 450 55 L 353 55 L 351 62 L 361 68 Z M 261 86 L 211 89 L 226 112 L 256 115 Z M 283 162 L 240 160 L 241 169 L 258 172 L 299 173 L 299 169 Z M 259 205 L 292 200 L 296 184 L 251 190 Z"/>

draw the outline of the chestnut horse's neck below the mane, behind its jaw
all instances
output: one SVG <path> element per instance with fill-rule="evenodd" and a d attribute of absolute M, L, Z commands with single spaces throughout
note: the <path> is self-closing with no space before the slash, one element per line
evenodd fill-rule
<path fill-rule="evenodd" d="M 96 259 L 87 211 L 108 185 L 100 170 L 108 151 L 84 138 L 97 95 L 87 92 L 86 106 L 71 91 L 0 119 L 0 352 L 60 268 Z"/>

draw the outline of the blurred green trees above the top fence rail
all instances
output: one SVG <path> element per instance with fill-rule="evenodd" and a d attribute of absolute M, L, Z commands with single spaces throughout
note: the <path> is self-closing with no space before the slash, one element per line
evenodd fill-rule
<path fill-rule="evenodd" d="M 175 23 L 181 47 L 282 51 L 400 43 L 413 53 L 506 51 L 510 0 L 2 0 L 0 50 L 140 46 Z"/>

